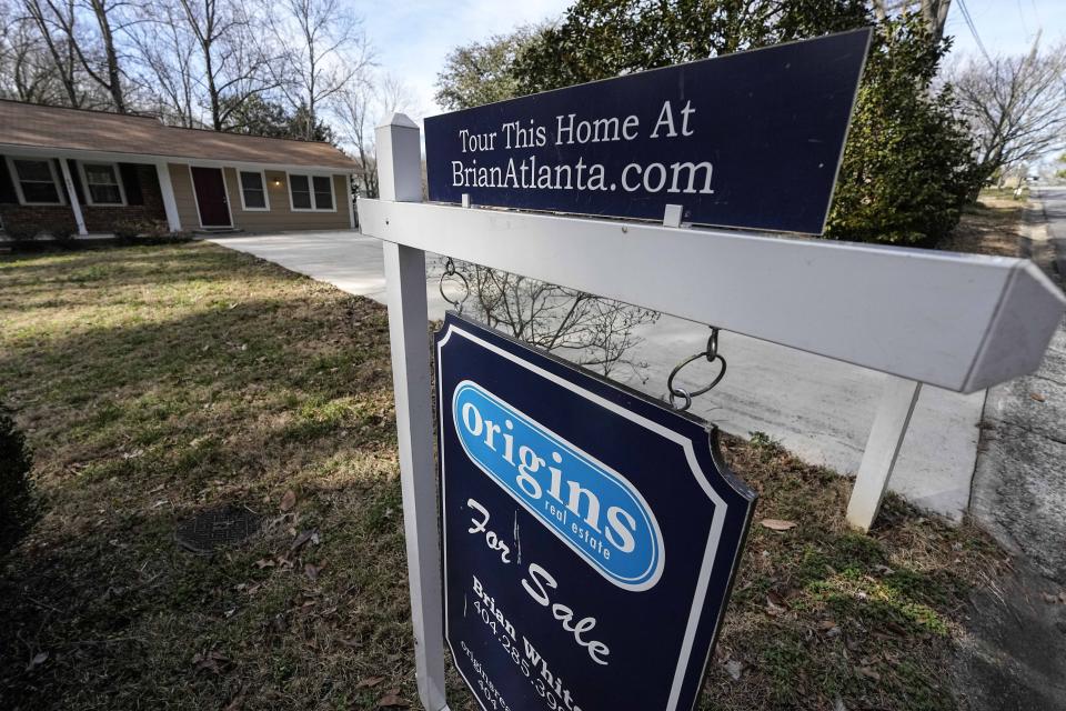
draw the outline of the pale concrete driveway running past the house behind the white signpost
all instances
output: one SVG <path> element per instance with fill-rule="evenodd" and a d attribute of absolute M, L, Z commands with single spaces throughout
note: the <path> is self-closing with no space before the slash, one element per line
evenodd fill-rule
<path fill-rule="evenodd" d="M 349 293 L 384 301 L 376 239 L 356 232 L 320 232 L 212 241 Z M 440 273 L 435 259 L 430 267 L 434 276 Z M 430 317 L 441 318 L 446 303 L 433 277 L 428 279 L 426 293 Z M 666 316 L 643 328 L 640 334 L 645 340 L 634 359 L 648 363 L 643 373 L 646 381 L 628 384 L 661 397 L 671 369 L 702 351 L 707 332 L 706 327 Z M 765 432 L 803 459 L 841 473 L 858 469 L 884 375 L 736 333 L 723 333 L 720 350 L 728 361 L 728 374 L 718 388 L 696 400 L 695 414 L 733 434 Z M 919 507 L 959 519 L 969 501 L 984 400 L 984 392 L 959 395 L 923 389 L 891 488 Z"/>

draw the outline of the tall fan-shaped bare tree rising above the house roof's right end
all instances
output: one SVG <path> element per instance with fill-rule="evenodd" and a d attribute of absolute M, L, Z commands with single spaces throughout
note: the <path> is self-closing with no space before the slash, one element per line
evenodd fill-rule
<path fill-rule="evenodd" d="M 304 110 L 303 138 L 314 136 L 323 104 L 372 64 L 361 21 L 339 0 L 278 0 L 270 21 L 284 48 L 274 67 L 278 84 L 294 110 Z"/>

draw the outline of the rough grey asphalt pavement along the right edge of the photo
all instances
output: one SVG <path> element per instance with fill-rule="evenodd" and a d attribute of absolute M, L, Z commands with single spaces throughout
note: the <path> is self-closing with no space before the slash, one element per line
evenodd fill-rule
<path fill-rule="evenodd" d="M 1026 236 L 1033 260 L 1063 286 L 1066 190 L 1049 197 L 1048 210 L 1033 199 Z M 971 511 L 1014 559 L 972 600 L 956 673 L 974 711 L 1066 709 L 1064 423 L 1066 323 L 1039 370 L 992 388 L 985 404 Z"/>

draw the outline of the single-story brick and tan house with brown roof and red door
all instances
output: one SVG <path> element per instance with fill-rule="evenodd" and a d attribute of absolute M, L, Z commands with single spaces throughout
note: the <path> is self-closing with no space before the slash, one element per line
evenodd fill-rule
<path fill-rule="evenodd" d="M 356 168 L 329 143 L 0 101 L 0 229 L 9 231 L 349 229 Z"/>

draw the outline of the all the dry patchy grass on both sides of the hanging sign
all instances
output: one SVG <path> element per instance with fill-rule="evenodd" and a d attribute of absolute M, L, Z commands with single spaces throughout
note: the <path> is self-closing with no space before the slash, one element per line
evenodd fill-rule
<path fill-rule="evenodd" d="M 0 258 L 0 400 L 48 509 L 3 561 L 0 708 L 418 708 L 384 309 L 205 244 Z M 846 480 L 765 438 L 726 449 L 756 521 L 798 525 L 755 525 L 702 708 L 955 708 L 996 549 L 895 499 L 854 534 Z M 231 502 L 265 532 L 174 544 Z"/>

